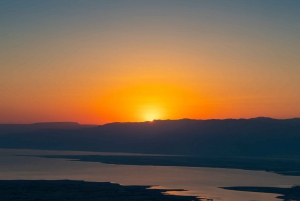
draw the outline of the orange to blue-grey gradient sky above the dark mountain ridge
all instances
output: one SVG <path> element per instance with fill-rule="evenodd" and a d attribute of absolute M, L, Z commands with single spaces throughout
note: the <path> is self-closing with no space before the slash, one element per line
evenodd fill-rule
<path fill-rule="evenodd" d="M 300 1 L 1 0 L 0 123 L 300 117 Z"/>

